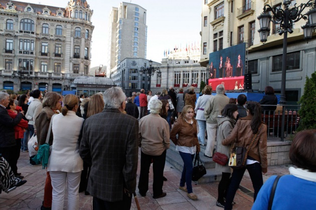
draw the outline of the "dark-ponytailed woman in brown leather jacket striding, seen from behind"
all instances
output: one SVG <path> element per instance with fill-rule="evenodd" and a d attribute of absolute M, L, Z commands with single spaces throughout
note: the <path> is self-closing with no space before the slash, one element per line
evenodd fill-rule
<path fill-rule="evenodd" d="M 263 185 L 262 173 L 267 172 L 267 126 L 261 120 L 261 105 L 258 102 L 248 102 L 247 114 L 246 117 L 238 119 L 231 134 L 222 142 L 223 145 L 235 143 L 235 145 L 244 146 L 248 150 L 246 167 L 233 169 L 225 209 L 232 209 L 233 199 L 246 169 L 254 187 L 254 200 Z M 261 124 L 262 126 L 260 126 Z M 257 137 L 253 141 L 255 134 Z M 249 146 L 250 144 L 251 146 Z"/>

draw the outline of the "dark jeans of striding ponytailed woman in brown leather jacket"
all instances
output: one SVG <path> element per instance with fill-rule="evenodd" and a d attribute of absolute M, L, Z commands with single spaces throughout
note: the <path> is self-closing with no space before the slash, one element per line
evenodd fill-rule
<path fill-rule="evenodd" d="M 253 201 L 256 200 L 257 194 L 263 185 L 263 178 L 262 178 L 262 170 L 261 170 L 261 164 L 258 162 L 255 162 L 253 164 L 248 164 L 246 166 L 252 186 L 254 188 L 254 195 L 253 195 Z M 236 191 L 239 187 L 239 184 L 241 182 L 241 179 L 246 171 L 246 168 L 242 169 L 234 169 L 232 174 L 232 179 L 228 188 L 227 196 L 226 196 L 226 202 L 225 202 L 225 209 L 232 209 L 233 205 L 232 202 L 234 200 Z"/>

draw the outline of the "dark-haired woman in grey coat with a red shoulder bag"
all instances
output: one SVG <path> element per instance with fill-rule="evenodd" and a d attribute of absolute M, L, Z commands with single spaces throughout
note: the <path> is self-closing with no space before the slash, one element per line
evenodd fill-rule
<path fill-rule="evenodd" d="M 232 151 L 232 145 L 224 146 L 222 145 L 222 141 L 224 138 L 228 137 L 228 135 L 234 128 L 237 115 L 238 115 L 237 105 L 228 103 L 227 105 L 225 105 L 224 109 L 222 110 L 222 115 L 219 115 L 217 117 L 218 128 L 217 128 L 217 133 L 216 133 L 216 139 L 217 139 L 216 151 L 225 154 L 227 157 L 229 157 Z M 233 172 L 233 169 L 230 166 L 228 166 L 228 161 L 226 165 L 221 165 L 221 164 L 216 163 L 215 169 L 222 172 L 222 178 L 218 184 L 218 197 L 217 197 L 216 205 L 220 207 L 224 207 L 224 196 L 229 187 L 229 177 L 231 173 Z"/>

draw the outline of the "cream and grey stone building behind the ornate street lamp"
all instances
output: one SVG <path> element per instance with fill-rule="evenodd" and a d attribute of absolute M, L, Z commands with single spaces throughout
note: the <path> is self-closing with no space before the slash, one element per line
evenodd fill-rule
<path fill-rule="evenodd" d="M 306 3 L 306 0 L 290 0 L 289 7 Z M 207 66 L 209 54 L 232 45 L 246 42 L 246 69 L 252 74 L 252 88 L 264 90 L 272 86 L 276 92 L 281 89 L 282 41 L 280 24 L 270 23 L 267 41 L 260 42 L 259 20 L 264 5 L 274 9 L 284 8 L 283 0 L 202 0 L 202 51 L 201 65 Z M 309 8 L 305 8 L 305 14 Z M 288 33 L 286 63 L 287 101 L 297 101 L 303 94 L 305 76 L 315 71 L 316 40 L 303 39 L 301 26 L 306 20 L 300 19 Z M 313 33 L 314 34 L 314 33 Z"/>

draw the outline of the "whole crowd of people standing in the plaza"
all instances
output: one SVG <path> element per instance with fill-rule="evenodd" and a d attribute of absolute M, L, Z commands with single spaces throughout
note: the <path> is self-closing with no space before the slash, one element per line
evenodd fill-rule
<path fill-rule="evenodd" d="M 268 96 L 263 104 L 272 100 L 275 103 L 271 88 L 266 88 Z M 216 87 L 215 95 L 212 87 L 206 85 L 198 99 L 193 87 L 185 91 L 180 88 L 178 93 L 170 87 L 169 91 L 163 89 L 155 94 L 150 90 L 145 94 L 141 89 L 130 97 L 120 87 L 90 97 L 62 96 L 57 92 L 43 95 L 39 89 L 19 96 L 0 92 L 0 153 L 7 162 L 7 185 L 20 186 L 26 180 L 18 173 L 17 161 L 20 152 L 28 151 L 29 138 L 36 135 L 39 146 L 48 143 L 52 147 L 41 209 L 62 209 L 66 186 L 68 209 L 79 208 L 81 191 L 93 196 L 93 209 L 129 209 L 136 189 L 139 148 L 141 196 L 147 195 L 151 163 L 152 196 L 157 199 L 167 195 L 163 191 L 167 180 L 164 168 L 172 141 L 183 160 L 179 189 L 197 200 L 192 187 L 193 159 L 201 146 L 205 146 L 204 155 L 208 158 L 213 158 L 215 152 L 229 157 L 235 145 L 244 146 L 248 152 L 244 168 L 232 169 L 228 162 L 216 163 L 215 169 L 222 172 L 216 205 L 232 209 L 247 169 L 254 187 L 254 207 L 261 209 L 267 204 L 265 197 L 274 181 L 271 178 L 262 187 L 262 174 L 267 172 L 267 126 L 261 114 L 260 103 L 247 101 L 245 94 L 228 98 L 223 84 Z M 297 177 L 306 184 L 310 179 L 305 176 L 314 175 L 316 164 L 310 159 L 315 157 L 314 150 L 297 147 L 308 137 L 313 145 L 315 133 L 311 130 L 294 138 L 290 157 L 304 171 L 290 169 L 295 177 L 282 178 L 283 187 Z M 32 158 L 30 164 L 36 165 Z"/>

